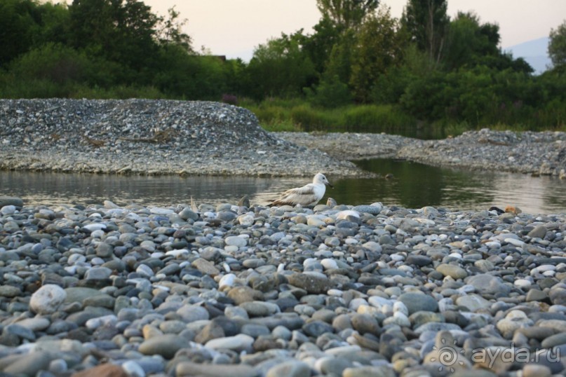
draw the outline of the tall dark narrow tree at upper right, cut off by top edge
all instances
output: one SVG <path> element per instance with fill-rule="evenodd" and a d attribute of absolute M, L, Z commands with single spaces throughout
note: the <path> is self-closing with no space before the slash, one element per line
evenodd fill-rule
<path fill-rule="evenodd" d="M 450 24 L 446 10 L 447 0 L 408 0 L 401 18 L 412 41 L 437 63 L 443 55 Z"/>

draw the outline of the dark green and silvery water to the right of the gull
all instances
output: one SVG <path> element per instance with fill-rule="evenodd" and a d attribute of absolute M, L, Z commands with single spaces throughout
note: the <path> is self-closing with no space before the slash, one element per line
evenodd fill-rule
<path fill-rule="evenodd" d="M 529 213 L 566 212 L 566 181 L 555 177 L 440 168 L 389 159 L 361 160 L 356 164 L 382 176 L 393 174 L 393 179 L 372 179 L 367 184 L 359 180 L 339 182 L 360 196 L 382 203 L 451 210 L 516 205 Z"/>

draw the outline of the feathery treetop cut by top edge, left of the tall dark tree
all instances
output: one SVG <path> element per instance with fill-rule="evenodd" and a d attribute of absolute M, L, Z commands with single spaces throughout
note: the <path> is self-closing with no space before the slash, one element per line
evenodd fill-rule
<path fill-rule="evenodd" d="M 335 22 L 338 27 L 359 27 L 364 18 L 379 6 L 379 0 L 316 0 L 323 18 Z"/>

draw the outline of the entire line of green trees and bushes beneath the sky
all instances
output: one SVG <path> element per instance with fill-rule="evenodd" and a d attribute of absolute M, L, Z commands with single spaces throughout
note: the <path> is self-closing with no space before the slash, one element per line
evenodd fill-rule
<path fill-rule="evenodd" d="M 400 19 L 379 0 L 316 5 L 314 32 L 270 39 L 246 63 L 194 50 L 175 8 L 159 16 L 137 0 L 0 0 L 0 95 L 283 97 L 386 105 L 416 123 L 565 123 L 566 22 L 550 35 L 553 68 L 533 76 L 499 48 L 498 25 L 450 18 L 447 0 L 407 0 Z"/>

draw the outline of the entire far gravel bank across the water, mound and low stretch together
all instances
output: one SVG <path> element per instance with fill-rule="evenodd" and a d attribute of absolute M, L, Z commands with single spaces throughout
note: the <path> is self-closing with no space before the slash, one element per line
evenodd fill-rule
<path fill-rule="evenodd" d="M 217 102 L 0 100 L 1 170 L 371 177 L 351 162 L 368 158 L 566 177 L 566 134 L 266 132 L 250 111 Z"/>

